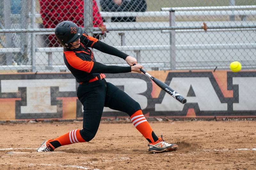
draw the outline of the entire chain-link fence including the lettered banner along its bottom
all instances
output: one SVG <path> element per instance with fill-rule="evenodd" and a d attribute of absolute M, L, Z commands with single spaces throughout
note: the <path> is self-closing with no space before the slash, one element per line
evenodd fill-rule
<path fill-rule="evenodd" d="M 54 36 L 64 20 L 134 56 L 188 99 L 177 103 L 142 74 L 108 74 L 143 113 L 255 117 L 248 99 L 256 93 L 248 86 L 256 83 L 256 0 L 0 0 L 0 120 L 83 116 L 78 84 Z M 93 53 L 97 62 L 127 66 Z M 233 61 L 245 71 L 227 72 Z M 127 116 L 106 108 L 103 115 Z"/>

